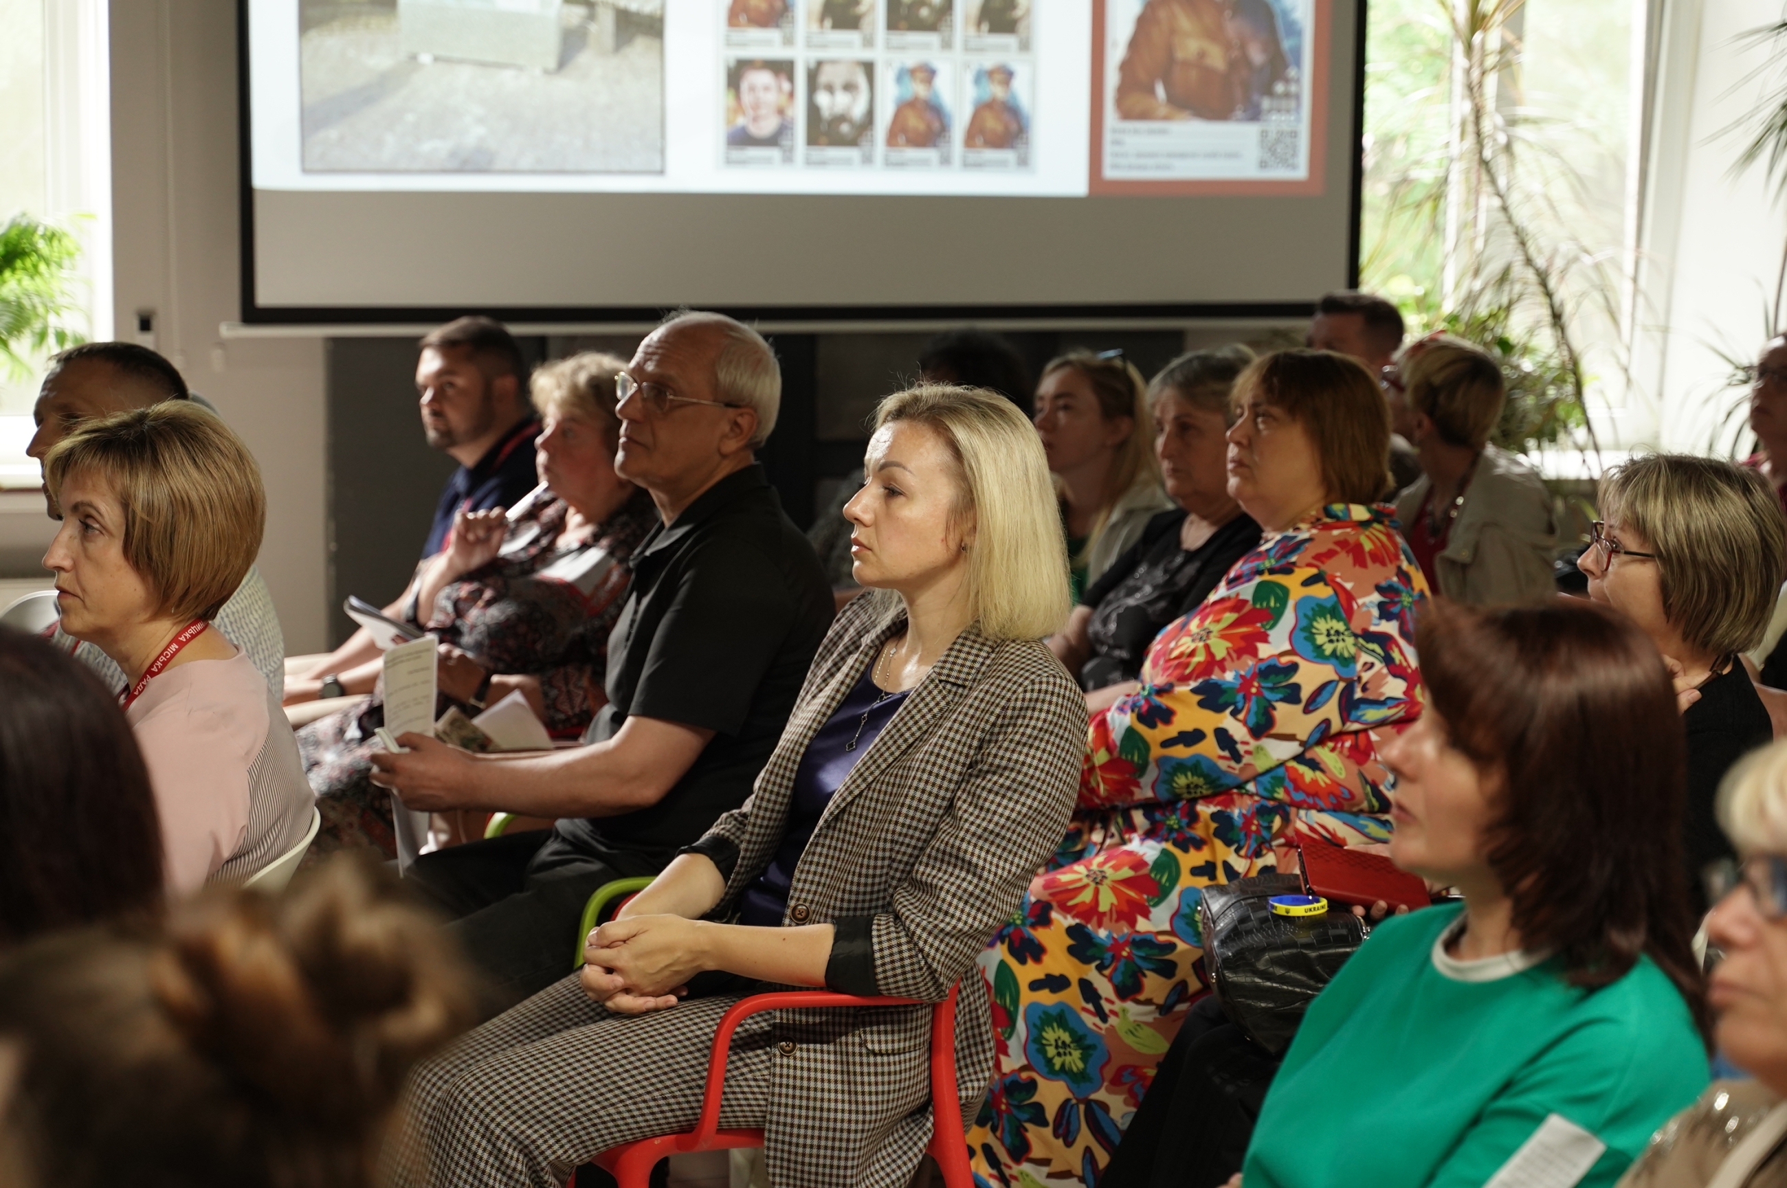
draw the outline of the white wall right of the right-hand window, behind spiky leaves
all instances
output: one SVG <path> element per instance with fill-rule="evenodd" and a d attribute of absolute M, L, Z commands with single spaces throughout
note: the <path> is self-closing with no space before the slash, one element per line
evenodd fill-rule
<path fill-rule="evenodd" d="M 1764 52 L 1739 34 L 1782 16 L 1780 0 L 1667 0 L 1653 104 L 1653 154 L 1640 232 L 1635 388 L 1649 395 L 1649 434 L 1664 448 L 1705 452 L 1716 439 L 1748 448 L 1744 393 L 1721 389 L 1719 352 L 1755 361 L 1766 338 L 1787 205 L 1760 170 L 1732 175 L 1746 138 L 1726 129 L 1758 107 L 1751 71 Z M 1766 79 L 1778 77 L 1767 71 Z"/>

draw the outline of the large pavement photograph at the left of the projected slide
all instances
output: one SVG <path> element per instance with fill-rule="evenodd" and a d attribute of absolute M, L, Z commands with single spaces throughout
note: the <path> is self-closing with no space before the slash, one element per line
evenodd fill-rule
<path fill-rule="evenodd" d="M 306 173 L 663 173 L 663 0 L 300 0 Z"/>

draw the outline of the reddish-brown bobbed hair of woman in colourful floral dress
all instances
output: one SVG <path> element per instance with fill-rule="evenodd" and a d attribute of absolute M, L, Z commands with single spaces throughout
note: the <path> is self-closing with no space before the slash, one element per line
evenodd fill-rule
<path fill-rule="evenodd" d="M 1331 350 L 1279 350 L 1235 381 L 1235 407 L 1256 395 L 1303 425 L 1322 459 L 1331 504 L 1374 504 L 1390 479 L 1390 406 L 1358 359 Z"/>

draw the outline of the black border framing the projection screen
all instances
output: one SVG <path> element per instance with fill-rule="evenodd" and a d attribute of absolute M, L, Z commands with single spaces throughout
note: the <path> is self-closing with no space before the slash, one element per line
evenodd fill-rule
<path fill-rule="evenodd" d="M 1326 2 L 1326 0 L 1319 0 Z M 624 325 L 658 322 L 667 311 L 656 305 L 261 305 L 254 255 L 254 125 L 248 84 L 248 4 L 236 0 L 236 136 L 238 209 L 241 257 L 241 311 L 245 325 L 393 325 L 440 323 L 481 313 L 515 325 Z M 1362 204 L 1365 191 L 1365 32 L 1371 0 L 1356 0 L 1353 29 L 1353 141 L 1347 193 L 1347 288 L 1358 288 Z M 718 313 L 743 322 L 799 323 L 927 323 L 999 322 L 1015 323 L 1142 323 L 1204 322 L 1226 318 L 1308 318 L 1315 302 L 1135 302 L 1135 304 L 1033 304 L 1033 305 L 726 305 Z"/>

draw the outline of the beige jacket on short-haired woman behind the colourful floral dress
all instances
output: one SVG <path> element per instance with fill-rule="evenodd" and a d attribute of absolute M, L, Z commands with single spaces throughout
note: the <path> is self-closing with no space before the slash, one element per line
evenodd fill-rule
<path fill-rule="evenodd" d="M 1421 475 L 1396 497 L 1396 518 L 1405 534 L 1421 515 L 1430 486 Z M 1556 543 L 1551 495 L 1539 472 L 1506 450 L 1487 447 L 1435 563 L 1439 593 L 1474 606 L 1549 598 L 1556 593 L 1551 579 Z"/>

